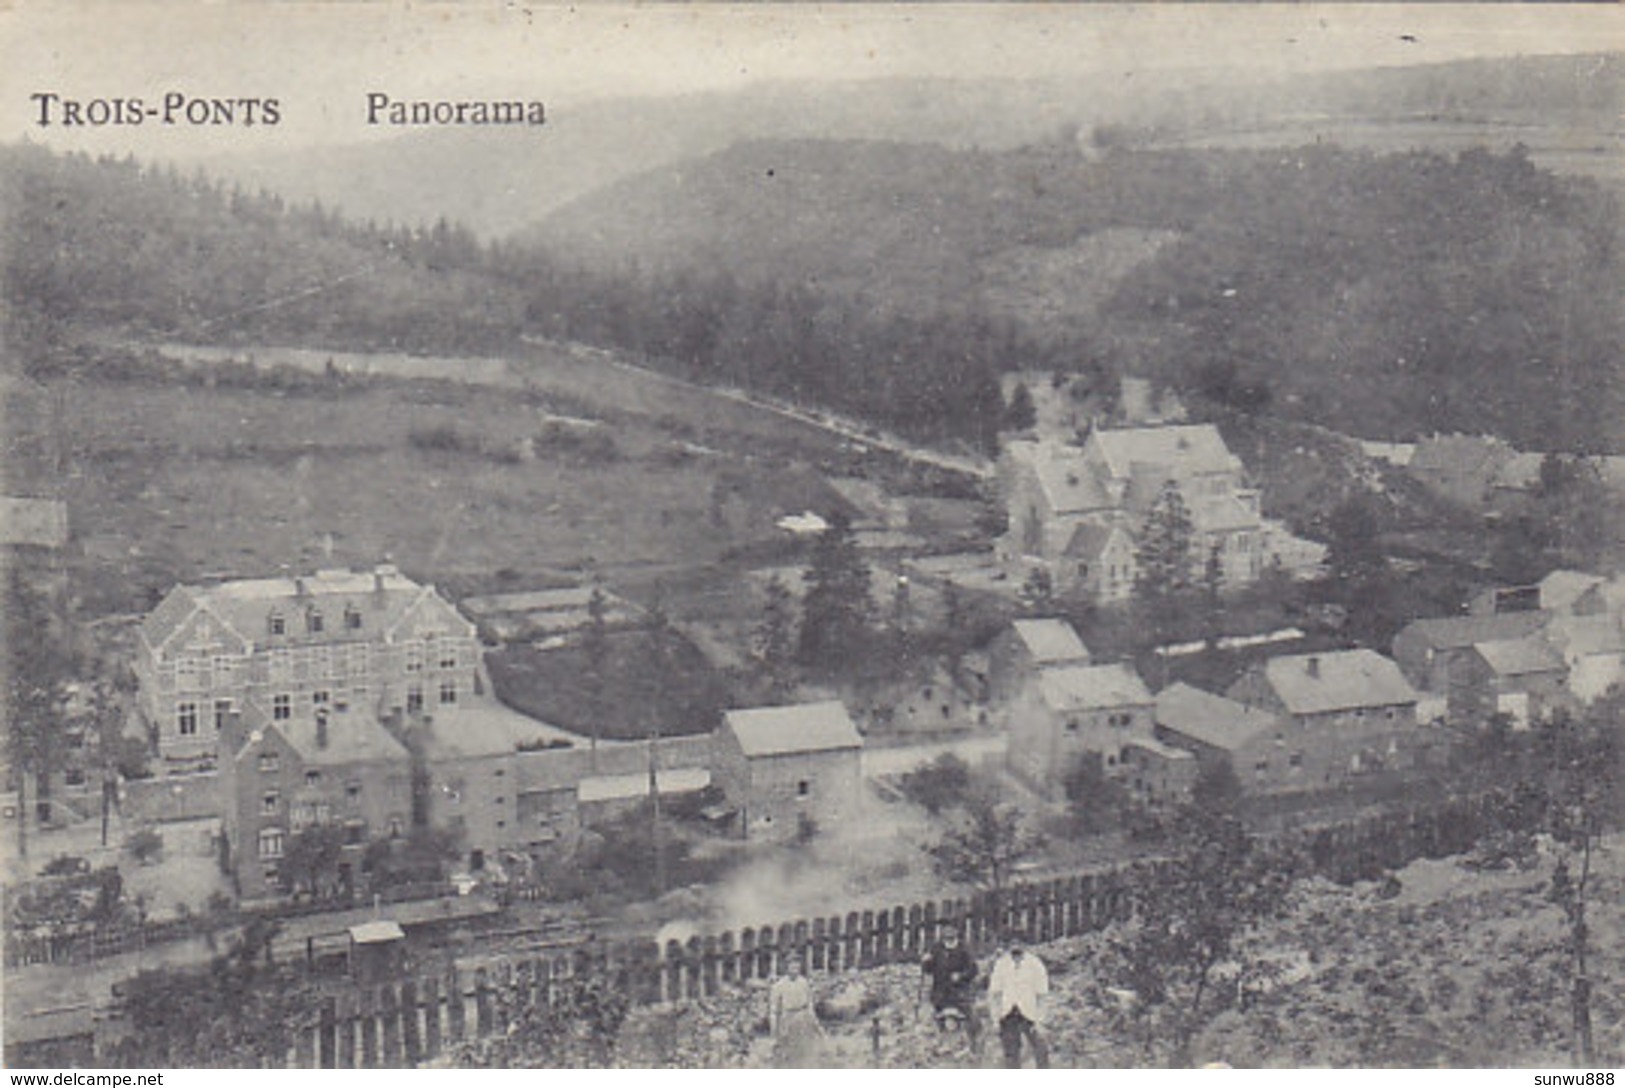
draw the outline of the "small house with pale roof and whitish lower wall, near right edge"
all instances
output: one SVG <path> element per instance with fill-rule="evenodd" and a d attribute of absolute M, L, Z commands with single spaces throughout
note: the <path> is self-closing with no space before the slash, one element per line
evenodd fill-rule
<path fill-rule="evenodd" d="M 1450 674 L 1448 721 L 1482 727 L 1506 715 L 1513 729 L 1528 729 L 1568 703 L 1566 680 L 1563 658 L 1539 633 L 1474 643 Z"/>

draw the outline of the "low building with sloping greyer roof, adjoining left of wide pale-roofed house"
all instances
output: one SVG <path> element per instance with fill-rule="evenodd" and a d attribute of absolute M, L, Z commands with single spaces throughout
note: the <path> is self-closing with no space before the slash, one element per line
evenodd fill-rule
<path fill-rule="evenodd" d="M 1306 737 L 1289 744 L 1282 718 L 1259 706 L 1172 684 L 1157 692 L 1157 737 L 1186 749 L 1204 770 L 1225 768 L 1248 792 L 1306 791 L 1310 779 L 1302 749 Z"/>

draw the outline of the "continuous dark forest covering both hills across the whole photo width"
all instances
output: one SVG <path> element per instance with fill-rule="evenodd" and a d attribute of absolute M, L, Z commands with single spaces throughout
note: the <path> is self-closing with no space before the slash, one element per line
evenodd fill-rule
<path fill-rule="evenodd" d="M 806 175 L 793 214 L 791 171 L 778 188 L 741 180 L 764 156 L 791 156 Z M 203 175 L 8 148 L 13 338 L 81 325 L 476 352 L 559 336 L 983 448 L 1006 411 L 999 372 L 1032 365 L 1149 373 L 1230 409 L 1367 437 L 1490 430 L 1596 450 L 1625 414 L 1617 200 L 1523 149 L 800 141 L 708 162 L 687 190 L 722 188 L 692 208 L 616 187 L 639 265 L 528 237 L 481 245 L 445 221 L 348 222 Z M 1001 284 L 1074 310 L 1060 325 L 1004 312 L 988 291 L 1001 253 L 1064 253 L 1105 229 L 1178 240 L 1113 273 L 1098 307 L 1035 273 Z"/>

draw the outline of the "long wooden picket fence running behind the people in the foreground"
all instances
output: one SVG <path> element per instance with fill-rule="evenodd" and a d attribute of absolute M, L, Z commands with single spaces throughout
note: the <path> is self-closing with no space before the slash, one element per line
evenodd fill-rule
<path fill-rule="evenodd" d="M 1355 879 L 1417 857 L 1469 849 L 1500 818 L 1487 797 L 1428 810 L 1383 814 L 1276 836 L 1306 869 Z M 759 979 L 788 960 L 812 974 L 913 961 L 939 924 L 978 952 L 1004 932 L 1037 943 L 1098 930 L 1133 917 L 1139 898 L 1170 861 L 1138 861 L 1098 872 L 1019 883 L 998 900 L 975 895 L 890 909 L 848 911 L 774 926 L 696 935 L 686 942 L 595 942 L 541 955 L 494 956 L 471 976 L 455 973 L 358 986 L 323 999 L 314 1023 L 296 1031 L 286 1060 L 301 1069 L 416 1065 L 447 1047 L 507 1031 L 499 995 L 551 1004 L 574 979 L 603 979 L 632 1004 L 694 1000 Z"/>

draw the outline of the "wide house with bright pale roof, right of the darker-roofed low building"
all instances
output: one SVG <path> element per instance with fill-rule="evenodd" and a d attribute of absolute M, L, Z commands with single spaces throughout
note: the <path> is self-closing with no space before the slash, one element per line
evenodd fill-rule
<path fill-rule="evenodd" d="M 1441 734 L 1417 727 L 1417 692 L 1399 666 L 1373 650 L 1271 658 L 1225 695 L 1280 719 L 1274 762 L 1302 771 L 1305 788 L 1341 786 L 1367 775 L 1407 771 L 1445 757 Z"/>

